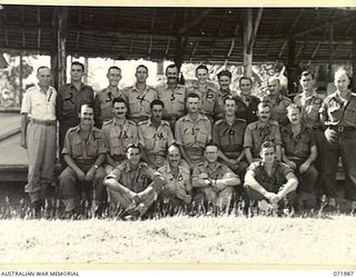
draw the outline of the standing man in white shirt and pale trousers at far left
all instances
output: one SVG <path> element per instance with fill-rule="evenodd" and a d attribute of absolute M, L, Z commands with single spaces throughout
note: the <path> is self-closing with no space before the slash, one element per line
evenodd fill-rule
<path fill-rule="evenodd" d="M 40 217 L 44 207 L 46 190 L 53 182 L 56 161 L 56 97 L 49 86 L 48 67 L 37 70 L 38 85 L 27 90 L 21 106 L 21 147 L 27 149 L 29 161 L 28 183 L 34 216 Z"/>

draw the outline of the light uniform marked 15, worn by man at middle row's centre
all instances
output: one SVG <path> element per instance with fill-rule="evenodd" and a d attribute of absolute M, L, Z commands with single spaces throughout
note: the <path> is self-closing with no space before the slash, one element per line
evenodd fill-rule
<path fill-rule="evenodd" d="M 189 113 L 176 122 L 176 142 L 182 146 L 191 162 L 202 162 L 204 151 L 211 140 L 211 123 L 204 116 L 198 115 L 197 120 L 192 120 Z"/>

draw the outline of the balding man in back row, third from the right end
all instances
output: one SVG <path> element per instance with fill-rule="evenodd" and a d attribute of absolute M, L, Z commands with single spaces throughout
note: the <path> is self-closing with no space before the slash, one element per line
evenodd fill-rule
<path fill-rule="evenodd" d="M 283 96 L 280 80 L 278 77 L 270 77 L 267 79 L 268 95 L 263 98 L 263 101 L 268 101 L 271 107 L 270 119 L 277 121 L 279 125 L 288 122 L 287 107 L 291 105 L 291 100 Z"/>

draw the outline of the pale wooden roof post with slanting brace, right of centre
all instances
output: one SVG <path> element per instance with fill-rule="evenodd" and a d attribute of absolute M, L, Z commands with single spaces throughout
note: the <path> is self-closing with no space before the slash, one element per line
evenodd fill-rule
<path fill-rule="evenodd" d="M 248 53 L 248 43 L 253 36 L 253 9 L 246 9 L 244 19 L 244 76 L 253 77 L 253 49 Z"/>

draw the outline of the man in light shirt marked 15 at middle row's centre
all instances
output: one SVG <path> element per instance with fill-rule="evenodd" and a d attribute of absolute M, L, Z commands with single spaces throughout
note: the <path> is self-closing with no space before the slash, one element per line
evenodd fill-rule
<path fill-rule="evenodd" d="M 205 147 L 211 140 L 211 123 L 206 116 L 199 113 L 199 101 L 197 93 L 188 95 L 188 113 L 176 122 L 175 128 L 177 145 L 190 169 L 204 161 Z"/>

